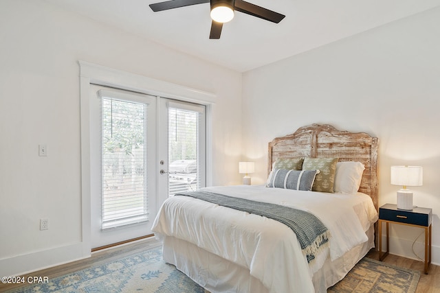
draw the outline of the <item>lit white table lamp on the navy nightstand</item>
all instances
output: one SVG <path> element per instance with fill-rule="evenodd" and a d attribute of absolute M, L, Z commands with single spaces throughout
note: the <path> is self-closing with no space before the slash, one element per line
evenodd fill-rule
<path fill-rule="evenodd" d="M 403 186 L 397 191 L 397 209 L 412 210 L 412 191 L 406 187 L 423 185 L 423 167 L 391 166 L 391 184 Z"/>

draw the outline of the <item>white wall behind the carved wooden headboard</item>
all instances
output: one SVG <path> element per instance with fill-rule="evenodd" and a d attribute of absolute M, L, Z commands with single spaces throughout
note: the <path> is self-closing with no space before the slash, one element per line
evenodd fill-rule
<path fill-rule="evenodd" d="M 312 123 L 368 132 L 380 139 L 380 205 L 396 203 L 391 165 L 423 166 L 423 187 L 411 189 L 414 203 L 434 213 L 432 261 L 439 264 L 439 36 L 436 8 L 245 73 L 243 154 L 256 161 L 252 182 L 267 176 L 274 137 Z M 391 225 L 391 253 L 414 257 L 410 245 L 420 232 Z"/>

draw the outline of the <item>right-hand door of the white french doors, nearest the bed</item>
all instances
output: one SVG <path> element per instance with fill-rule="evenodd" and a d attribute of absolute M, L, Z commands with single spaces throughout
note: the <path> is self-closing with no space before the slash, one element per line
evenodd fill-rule
<path fill-rule="evenodd" d="M 160 200 L 206 186 L 205 106 L 159 99 Z"/>

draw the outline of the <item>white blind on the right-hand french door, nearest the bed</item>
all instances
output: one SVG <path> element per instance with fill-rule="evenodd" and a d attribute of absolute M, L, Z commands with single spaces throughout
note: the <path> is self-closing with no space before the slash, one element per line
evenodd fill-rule
<path fill-rule="evenodd" d="M 168 103 L 168 196 L 195 191 L 205 184 L 201 180 L 205 176 L 204 150 L 200 148 L 204 110 L 204 106 Z"/>

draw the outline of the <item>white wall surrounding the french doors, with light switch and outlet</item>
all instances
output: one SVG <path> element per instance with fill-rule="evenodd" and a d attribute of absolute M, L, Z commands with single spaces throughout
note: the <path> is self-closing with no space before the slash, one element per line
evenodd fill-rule
<path fill-rule="evenodd" d="M 70 14 L 0 2 L 0 275 L 87 256 L 81 246 L 78 60 L 214 93 L 214 185 L 239 183 L 241 73 Z M 228 119 L 224 119 L 228 117 Z M 47 157 L 38 145 L 47 144 Z M 40 218 L 50 229 L 39 231 Z"/>

